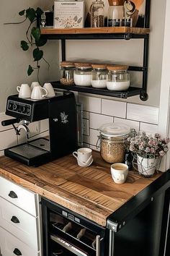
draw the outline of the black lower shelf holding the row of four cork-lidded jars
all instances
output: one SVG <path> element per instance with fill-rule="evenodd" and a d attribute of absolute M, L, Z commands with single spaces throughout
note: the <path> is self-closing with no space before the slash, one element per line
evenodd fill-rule
<path fill-rule="evenodd" d="M 53 85 L 53 88 L 56 89 L 62 89 L 62 90 L 72 90 L 79 93 L 91 93 L 95 95 L 105 95 L 105 96 L 111 96 L 116 98 L 129 98 L 135 95 L 140 95 L 140 93 L 145 92 L 142 88 L 135 88 L 130 87 L 128 90 L 125 91 L 116 91 L 116 90 L 107 90 L 107 89 L 98 89 L 98 88 L 92 88 L 90 87 L 84 87 L 84 86 L 78 86 L 78 85 L 62 85 L 61 82 L 51 82 Z"/>

